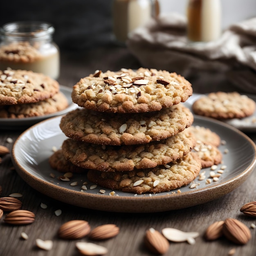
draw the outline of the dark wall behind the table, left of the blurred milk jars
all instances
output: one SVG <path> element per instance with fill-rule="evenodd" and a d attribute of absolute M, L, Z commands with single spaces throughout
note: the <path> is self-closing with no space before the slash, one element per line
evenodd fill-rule
<path fill-rule="evenodd" d="M 0 26 L 18 20 L 50 22 L 60 49 L 81 50 L 114 43 L 112 0 L 0 0 Z"/>

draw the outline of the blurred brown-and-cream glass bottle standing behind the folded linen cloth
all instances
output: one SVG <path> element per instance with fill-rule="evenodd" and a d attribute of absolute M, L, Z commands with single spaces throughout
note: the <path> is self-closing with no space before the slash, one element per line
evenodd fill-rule
<path fill-rule="evenodd" d="M 188 0 L 187 36 L 191 41 L 209 42 L 221 35 L 220 0 Z"/>

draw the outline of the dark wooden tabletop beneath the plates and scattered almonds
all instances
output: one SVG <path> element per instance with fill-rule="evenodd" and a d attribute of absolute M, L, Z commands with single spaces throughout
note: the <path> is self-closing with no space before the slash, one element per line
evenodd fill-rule
<path fill-rule="evenodd" d="M 125 47 L 110 47 L 91 49 L 85 52 L 65 52 L 61 54 L 61 76 L 58 81 L 62 85 L 72 87 L 79 79 L 97 69 L 119 70 L 121 67 L 137 69 L 137 60 L 131 56 Z M 193 83 L 192 83 L 193 84 Z M 200 88 L 193 85 L 195 92 L 202 92 Z M 218 90 L 216 88 L 204 88 L 207 90 Z M 222 89 L 223 90 L 223 89 Z M 13 143 L 8 143 L 7 138 L 13 141 L 22 131 L 0 130 L 0 145 L 7 146 L 10 150 Z M 256 134 L 248 134 L 256 142 Z M 235 139 L 235 138 L 234 138 Z M 1 197 L 9 196 L 11 193 L 21 193 L 22 209 L 32 211 L 36 220 L 30 225 L 11 226 L 0 220 L 0 255 L 1 256 L 76 256 L 77 241 L 88 241 L 88 238 L 79 240 L 62 240 L 58 238 L 58 228 L 69 220 L 87 220 L 92 228 L 103 224 L 113 223 L 120 228 L 120 233 L 115 238 L 95 242 L 108 248 L 108 256 L 143 256 L 154 255 L 144 246 L 144 234 L 147 229 L 153 227 L 161 231 L 165 227 L 173 227 L 182 231 L 197 231 L 200 236 L 195 239 L 195 245 L 189 243 L 171 243 L 166 255 L 172 256 L 225 256 L 230 249 L 235 248 L 236 256 L 255 256 L 256 229 L 250 229 L 252 239 L 246 245 L 236 245 L 226 239 L 207 242 L 203 238 L 207 227 L 219 220 L 236 218 L 247 227 L 256 224 L 255 218 L 248 218 L 240 213 L 240 207 L 247 202 L 256 200 L 256 172 L 252 172 L 241 186 L 231 193 L 211 202 L 189 207 L 186 209 L 159 212 L 159 213 L 114 213 L 95 211 L 74 207 L 49 198 L 35 189 L 32 189 L 12 168 L 11 156 L 2 157 L 0 164 L 0 185 L 2 186 Z M 47 209 L 42 209 L 40 204 L 47 204 Z M 62 214 L 56 216 L 54 211 L 61 209 Z M 29 238 L 20 238 L 24 231 Z M 44 251 L 36 247 L 36 238 L 52 240 L 53 248 Z"/>

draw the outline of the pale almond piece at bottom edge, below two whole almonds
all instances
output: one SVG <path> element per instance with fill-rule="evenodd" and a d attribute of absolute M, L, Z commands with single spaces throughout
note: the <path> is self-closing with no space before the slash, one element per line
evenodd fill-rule
<path fill-rule="evenodd" d="M 77 242 L 76 248 L 83 255 L 103 255 L 108 253 L 106 247 L 94 243 Z"/>

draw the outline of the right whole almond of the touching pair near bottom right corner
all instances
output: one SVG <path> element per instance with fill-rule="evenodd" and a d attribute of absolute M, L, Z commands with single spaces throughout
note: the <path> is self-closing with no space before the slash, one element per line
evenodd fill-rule
<path fill-rule="evenodd" d="M 223 234 L 231 242 L 245 245 L 252 237 L 251 231 L 239 220 L 228 218 L 222 227 Z"/>

